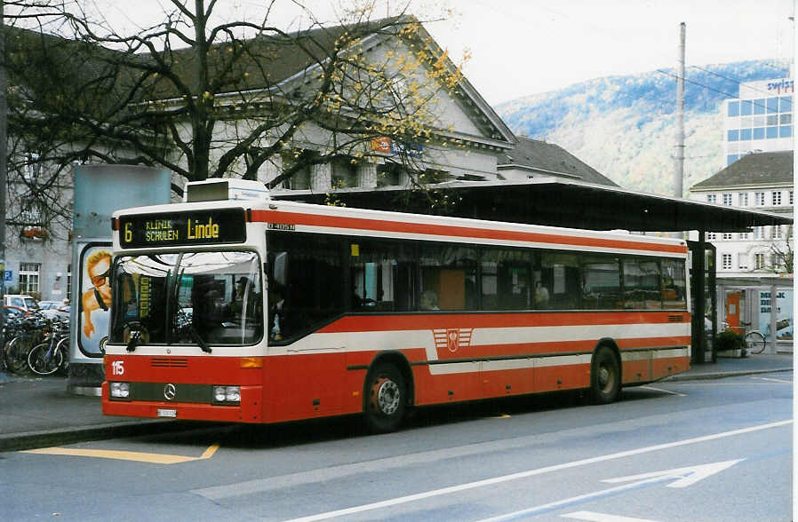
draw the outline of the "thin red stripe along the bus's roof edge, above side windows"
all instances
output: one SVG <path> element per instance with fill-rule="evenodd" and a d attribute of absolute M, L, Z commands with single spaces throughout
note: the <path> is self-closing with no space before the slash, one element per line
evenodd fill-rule
<path fill-rule="evenodd" d="M 324 216 L 319 214 L 300 214 L 281 212 L 279 210 L 252 210 L 252 220 L 282 225 L 325 226 L 330 228 L 348 228 L 355 230 L 375 230 L 391 233 L 419 233 L 433 236 L 470 237 L 504 241 L 527 241 L 552 245 L 569 245 L 579 247 L 595 247 L 604 249 L 638 249 L 651 252 L 673 252 L 686 254 L 685 245 L 649 243 L 643 241 L 610 240 L 590 237 L 574 237 L 554 233 L 520 232 L 515 230 L 497 230 L 488 228 L 471 228 L 454 225 L 431 225 L 427 223 L 407 223 L 382 219 L 345 218 L 340 216 Z"/>

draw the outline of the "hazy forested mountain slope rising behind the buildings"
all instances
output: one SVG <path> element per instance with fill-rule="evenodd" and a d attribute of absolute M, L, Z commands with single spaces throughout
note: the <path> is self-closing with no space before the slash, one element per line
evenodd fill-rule
<path fill-rule="evenodd" d="M 688 67 L 684 94 L 684 194 L 726 166 L 723 99 L 738 82 L 789 75 L 775 60 Z M 606 76 L 501 104 L 516 134 L 545 139 L 612 179 L 643 192 L 673 194 L 676 71 Z"/>

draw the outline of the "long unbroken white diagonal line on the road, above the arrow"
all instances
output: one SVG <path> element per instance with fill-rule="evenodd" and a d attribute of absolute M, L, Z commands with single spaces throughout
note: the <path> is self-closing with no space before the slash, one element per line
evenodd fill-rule
<path fill-rule="evenodd" d="M 619 458 L 624 458 L 627 456 L 633 455 L 642 455 L 646 453 L 651 453 L 654 451 L 660 451 L 663 449 L 670 449 L 673 447 L 680 447 L 680 446 L 687 446 L 690 444 L 698 444 L 700 442 L 708 442 L 710 440 L 717 440 L 717 439 L 725 439 L 727 437 L 734 437 L 736 435 L 743 435 L 745 433 L 752 433 L 754 431 L 762 431 L 762 430 L 770 430 L 771 428 L 778 428 L 780 426 L 786 426 L 787 424 L 793 423 L 792 419 L 786 421 L 778 421 L 777 423 L 767 423 L 767 424 L 760 424 L 758 426 L 751 426 L 748 428 L 742 428 L 739 430 L 732 430 L 732 431 L 723 431 L 721 433 L 714 433 L 712 435 L 705 435 L 702 437 L 695 437 L 693 439 L 683 439 L 677 440 L 675 442 L 667 442 L 666 444 L 658 444 L 655 446 L 648 446 L 648 447 L 639 447 L 637 449 L 630 449 L 627 451 L 620 451 L 618 453 L 612 453 L 610 455 L 599 455 L 587 459 L 582 459 L 579 461 L 572 461 L 570 463 L 562 463 L 562 464 L 555 464 L 553 466 L 546 466 L 544 468 L 538 468 L 535 470 L 528 470 L 528 471 L 521 471 L 518 473 L 511 473 L 509 475 L 503 475 L 500 477 L 494 477 L 492 479 L 483 479 L 477 480 L 475 482 L 467 482 L 465 484 L 459 484 L 457 486 L 449 486 L 449 487 L 442 487 L 440 489 L 433 489 L 430 491 L 425 491 L 417 494 L 409 494 L 406 496 L 400 496 L 392 499 L 387 499 L 380 502 L 371 502 L 369 504 L 363 504 L 360 506 L 353 506 L 351 508 L 345 508 L 343 510 L 333 510 L 333 511 L 326 511 L 324 513 L 318 513 L 315 515 L 310 515 L 308 517 L 300 517 L 300 518 L 293 518 L 291 522 L 310 522 L 312 520 L 323 520 L 326 518 L 336 518 L 336 517 L 344 517 L 347 515 L 353 515 L 355 513 L 362 513 L 363 511 L 369 510 L 378 510 L 380 508 L 388 508 L 391 506 L 395 506 L 398 504 L 403 504 L 407 502 L 416 502 L 419 500 L 424 500 L 427 498 L 432 498 L 435 496 L 441 496 L 444 494 L 452 494 L 452 493 L 459 493 L 462 491 L 467 491 L 469 489 L 475 489 L 477 487 L 484 487 L 484 486 L 493 486 L 495 484 L 501 484 L 503 482 L 509 482 L 511 480 L 517 479 L 527 479 L 529 477 L 535 477 L 538 475 L 543 475 L 546 473 L 551 473 L 553 471 L 563 471 L 569 470 L 572 468 L 577 468 L 580 466 L 587 466 L 589 464 L 595 463 L 604 463 L 611 460 L 616 460 Z M 627 487 L 627 486 L 621 486 Z"/>

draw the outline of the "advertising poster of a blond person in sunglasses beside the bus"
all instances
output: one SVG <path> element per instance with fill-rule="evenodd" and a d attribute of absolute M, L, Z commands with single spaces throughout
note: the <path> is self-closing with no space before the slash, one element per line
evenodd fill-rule
<path fill-rule="evenodd" d="M 78 314 L 78 340 L 86 355 L 102 353 L 108 340 L 111 307 L 110 245 L 89 245 L 80 257 L 81 285 Z"/>

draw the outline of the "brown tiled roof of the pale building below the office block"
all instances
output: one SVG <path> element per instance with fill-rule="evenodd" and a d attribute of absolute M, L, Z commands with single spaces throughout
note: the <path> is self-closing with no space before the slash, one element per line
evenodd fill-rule
<path fill-rule="evenodd" d="M 793 182 L 793 151 L 746 154 L 693 189 Z"/>

